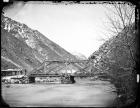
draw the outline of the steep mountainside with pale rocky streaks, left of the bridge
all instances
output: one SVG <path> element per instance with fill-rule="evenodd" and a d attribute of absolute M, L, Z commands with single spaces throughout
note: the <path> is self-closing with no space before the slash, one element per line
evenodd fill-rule
<path fill-rule="evenodd" d="M 44 60 L 77 58 L 39 31 L 1 15 L 1 69 L 24 68 L 31 71 Z"/>

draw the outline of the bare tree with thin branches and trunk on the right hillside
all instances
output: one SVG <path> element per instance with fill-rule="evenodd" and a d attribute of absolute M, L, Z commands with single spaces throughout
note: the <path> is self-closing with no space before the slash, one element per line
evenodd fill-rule
<path fill-rule="evenodd" d="M 134 28 L 135 23 L 135 6 L 128 3 L 117 2 L 114 2 L 109 6 L 106 6 L 111 13 L 106 13 L 108 23 L 110 24 L 108 31 L 115 36 L 123 33 L 125 37 L 123 45 L 128 48 L 131 59 L 135 64 L 136 60 L 131 46 L 135 43 L 136 37 L 133 40 L 129 40 L 129 34 L 131 31 L 133 32 L 132 29 Z"/>

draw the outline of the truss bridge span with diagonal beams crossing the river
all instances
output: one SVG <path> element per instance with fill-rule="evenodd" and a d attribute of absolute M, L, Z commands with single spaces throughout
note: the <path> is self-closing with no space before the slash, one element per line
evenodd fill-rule
<path fill-rule="evenodd" d="M 63 77 L 66 74 L 78 77 L 75 73 L 91 72 L 88 69 L 90 67 L 89 62 L 90 60 L 45 60 L 40 66 L 29 72 L 27 76 L 31 80 L 34 80 L 35 77 Z M 70 69 L 68 69 L 69 67 Z M 76 68 L 74 73 L 72 72 L 72 68 Z M 61 70 L 65 72 L 61 73 Z M 71 73 L 68 73 L 68 71 L 71 71 Z"/>

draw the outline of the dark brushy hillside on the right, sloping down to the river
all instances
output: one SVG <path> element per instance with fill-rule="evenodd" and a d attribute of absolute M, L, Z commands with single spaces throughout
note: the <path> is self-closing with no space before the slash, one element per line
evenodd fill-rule
<path fill-rule="evenodd" d="M 109 76 L 117 88 L 118 96 L 121 95 L 120 102 L 127 104 L 136 98 L 136 33 L 134 25 L 124 28 L 89 57 L 94 61 L 93 73 L 102 72 Z"/>

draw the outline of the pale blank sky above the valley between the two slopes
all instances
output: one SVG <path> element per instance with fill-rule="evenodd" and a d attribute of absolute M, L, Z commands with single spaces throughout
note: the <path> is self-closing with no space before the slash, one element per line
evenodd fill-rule
<path fill-rule="evenodd" d="M 19 2 L 8 7 L 5 16 L 38 30 L 70 53 L 89 57 L 107 38 L 105 11 L 103 4 Z"/>

